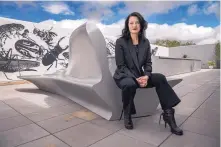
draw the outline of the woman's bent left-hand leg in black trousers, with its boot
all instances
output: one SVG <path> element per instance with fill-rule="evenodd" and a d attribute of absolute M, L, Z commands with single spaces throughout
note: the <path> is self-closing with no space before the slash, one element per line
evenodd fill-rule
<path fill-rule="evenodd" d="M 131 111 L 135 108 L 133 99 L 138 88 L 137 83 L 132 78 L 124 78 L 118 82 L 118 86 L 122 90 L 122 102 L 124 110 L 124 125 L 127 129 L 133 129 L 133 122 L 131 119 Z"/>

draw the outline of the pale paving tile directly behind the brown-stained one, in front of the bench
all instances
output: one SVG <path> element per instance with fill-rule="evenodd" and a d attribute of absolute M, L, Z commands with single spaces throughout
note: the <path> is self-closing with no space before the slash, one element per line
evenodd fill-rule
<path fill-rule="evenodd" d="M 38 121 L 49 119 L 49 118 L 59 116 L 62 114 L 74 112 L 80 109 L 83 109 L 83 107 L 81 107 L 80 105 L 76 103 L 71 103 L 70 105 L 64 105 L 60 107 L 51 107 L 43 111 L 29 113 L 29 114 L 26 114 L 25 116 L 27 116 L 29 119 L 33 120 L 34 122 L 38 122 Z"/>

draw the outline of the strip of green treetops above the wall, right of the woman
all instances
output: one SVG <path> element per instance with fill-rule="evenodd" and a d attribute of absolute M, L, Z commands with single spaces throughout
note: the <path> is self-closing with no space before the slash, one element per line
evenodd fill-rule
<path fill-rule="evenodd" d="M 188 41 L 186 43 L 182 43 L 181 41 L 177 41 L 177 40 L 156 40 L 156 42 L 154 44 L 159 45 L 159 46 L 165 46 L 165 47 L 196 45 L 192 41 Z"/>

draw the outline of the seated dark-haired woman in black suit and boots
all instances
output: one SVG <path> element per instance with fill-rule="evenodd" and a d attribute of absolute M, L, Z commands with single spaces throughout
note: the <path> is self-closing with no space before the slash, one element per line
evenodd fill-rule
<path fill-rule="evenodd" d="M 183 135 L 183 131 L 176 125 L 173 109 L 180 102 L 180 99 L 164 75 L 152 73 L 151 49 L 150 43 L 145 37 L 146 28 L 147 23 L 142 15 L 133 12 L 127 17 L 122 36 L 116 41 L 117 69 L 113 78 L 122 90 L 125 128 L 133 129 L 131 115 L 136 114 L 133 101 L 136 89 L 156 87 L 163 109 L 161 115 L 163 115 L 165 126 L 169 124 L 172 133 Z"/>

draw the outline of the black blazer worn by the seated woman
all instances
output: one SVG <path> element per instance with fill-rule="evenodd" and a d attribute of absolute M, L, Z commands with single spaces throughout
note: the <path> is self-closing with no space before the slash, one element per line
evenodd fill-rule
<path fill-rule="evenodd" d="M 136 55 L 135 46 L 131 39 L 123 37 L 116 40 L 115 61 L 117 69 L 114 80 L 118 83 L 122 78 L 138 78 L 143 75 L 151 76 L 151 48 L 148 39 L 144 38 L 138 44 L 139 53 Z"/>

